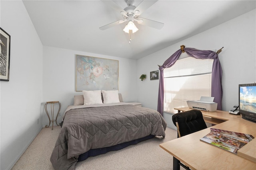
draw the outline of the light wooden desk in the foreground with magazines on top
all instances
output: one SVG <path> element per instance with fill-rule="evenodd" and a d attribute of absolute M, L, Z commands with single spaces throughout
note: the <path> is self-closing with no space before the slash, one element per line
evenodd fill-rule
<path fill-rule="evenodd" d="M 236 118 L 217 124 L 213 128 L 254 136 L 254 139 L 246 144 L 244 150 L 240 149 L 240 153 L 252 157 L 252 161 L 241 157 L 242 154 L 238 156 L 200 141 L 200 138 L 210 132 L 210 128 L 165 142 L 160 144 L 160 147 L 192 170 L 256 170 L 256 162 L 253 162 L 253 159 L 256 159 L 256 123 Z M 250 148 L 250 153 L 248 153 L 248 148 Z"/>

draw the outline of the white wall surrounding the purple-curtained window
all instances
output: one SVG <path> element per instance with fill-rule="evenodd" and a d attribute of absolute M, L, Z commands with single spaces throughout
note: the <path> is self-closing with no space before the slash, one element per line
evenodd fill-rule
<path fill-rule="evenodd" d="M 141 58 L 137 62 L 137 77 L 148 78 L 138 83 L 138 102 L 157 110 L 158 80 L 150 80 L 150 71 L 158 70 L 181 45 L 200 50 L 218 50 L 222 65 L 222 110 L 228 111 L 238 104 L 238 84 L 256 81 L 256 10 L 238 16 L 212 29 L 192 36 L 172 46 Z"/>

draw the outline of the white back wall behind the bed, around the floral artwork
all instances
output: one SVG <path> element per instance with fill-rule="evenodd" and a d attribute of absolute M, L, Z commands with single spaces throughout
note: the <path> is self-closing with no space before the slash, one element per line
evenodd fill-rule
<path fill-rule="evenodd" d="M 76 92 L 75 89 L 76 54 L 118 60 L 118 90 L 122 94 L 124 102 L 137 101 L 136 60 L 44 46 L 42 104 L 44 104 L 44 102 L 52 100 L 60 101 L 61 116 L 58 118 L 58 123 L 61 122 L 62 115 L 68 105 L 72 105 L 74 103 L 74 95 L 82 94 L 82 92 Z M 44 110 L 42 114 L 43 125 L 49 124 L 49 120 Z"/>

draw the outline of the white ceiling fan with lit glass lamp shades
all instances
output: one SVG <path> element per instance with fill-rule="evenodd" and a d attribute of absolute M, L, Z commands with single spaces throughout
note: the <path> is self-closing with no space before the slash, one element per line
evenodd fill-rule
<path fill-rule="evenodd" d="M 117 12 L 120 12 L 122 14 L 123 20 L 118 20 L 116 22 L 112 22 L 110 24 L 107 24 L 105 26 L 100 27 L 100 30 L 106 30 L 108 28 L 111 28 L 113 26 L 116 26 L 118 24 L 122 24 L 124 22 L 128 22 L 126 27 L 124 28 L 124 32 L 127 33 L 134 33 L 138 31 L 138 28 L 135 26 L 134 21 L 138 22 L 138 24 L 150 26 L 152 28 L 161 29 L 164 26 L 164 23 L 149 20 L 146 18 L 139 18 L 139 16 L 150 6 L 152 6 L 154 3 L 156 3 L 158 0 L 142 0 L 140 4 L 136 7 L 134 6 L 134 0 L 125 0 L 127 7 L 122 9 L 120 6 L 118 6 L 115 2 L 112 0 L 102 0 L 105 4 L 112 7 Z"/>

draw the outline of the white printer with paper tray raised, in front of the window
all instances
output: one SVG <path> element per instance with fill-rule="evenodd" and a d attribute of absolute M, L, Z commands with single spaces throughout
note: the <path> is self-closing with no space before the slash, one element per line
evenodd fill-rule
<path fill-rule="evenodd" d="M 201 96 L 200 100 L 187 101 L 188 107 L 207 112 L 215 112 L 218 103 L 213 102 L 214 97 Z"/>

